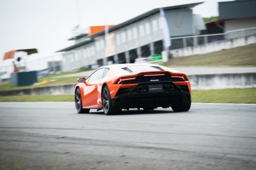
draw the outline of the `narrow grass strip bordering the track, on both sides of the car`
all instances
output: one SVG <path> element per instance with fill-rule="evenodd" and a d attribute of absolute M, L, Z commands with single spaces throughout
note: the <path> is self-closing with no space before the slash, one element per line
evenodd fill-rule
<path fill-rule="evenodd" d="M 38 95 L 0 97 L 0 102 L 13 101 L 74 101 L 74 95 Z M 256 88 L 223 90 L 193 90 L 194 103 L 250 103 L 256 104 Z"/>

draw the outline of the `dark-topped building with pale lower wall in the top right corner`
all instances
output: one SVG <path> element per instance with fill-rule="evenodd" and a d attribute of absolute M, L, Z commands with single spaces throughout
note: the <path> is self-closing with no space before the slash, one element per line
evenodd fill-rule
<path fill-rule="evenodd" d="M 228 2 L 218 2 L 218 20 L 207 23 L 207 33 L 229 33 L 229 39 L 252 35 L 256 27 L 256 1 L 255 0 L 236 0 Z"/>

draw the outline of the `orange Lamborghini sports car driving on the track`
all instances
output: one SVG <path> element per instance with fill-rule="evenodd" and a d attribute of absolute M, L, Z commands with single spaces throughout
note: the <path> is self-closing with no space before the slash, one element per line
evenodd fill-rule
<path fill-rule="evenodd" d="M 154 110 L 158 107 L 186 112 L 191 107 L 188 76 L 160 65 L 108 65 L 77 81 L 75 104 L 78 113 L 103 109 L 110 115 L 119 114 L 122 109 Z"/>

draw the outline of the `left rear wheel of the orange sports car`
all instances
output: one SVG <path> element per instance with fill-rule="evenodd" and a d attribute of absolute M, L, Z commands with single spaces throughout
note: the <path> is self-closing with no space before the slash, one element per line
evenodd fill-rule
<path fill-rule="evenodd" d="M 101 100 L 103 111 L 106 115 L 114 115 L 122 112 L 122 108 L 113 107 L 107 86 L 105 86 L 102 90 Z"/>

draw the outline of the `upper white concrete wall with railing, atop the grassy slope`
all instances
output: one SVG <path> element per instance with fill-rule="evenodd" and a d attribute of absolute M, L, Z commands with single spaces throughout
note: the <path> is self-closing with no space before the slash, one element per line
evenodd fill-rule
<path fill-rule="evenodd" d="M 170 50 L 172 57 L 192 56 L 196 54 L 205 54 L 217 52 L 222 49 L 236 48 L 238 46 L 244 46 L 256 43 L 256 35 L 239 37 L 236 39 L 227 39 L 217 42 L 210 42 L 208 44 L 202 44 L 197 46 L 189 46 L 187 48 Z"/>

